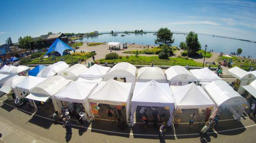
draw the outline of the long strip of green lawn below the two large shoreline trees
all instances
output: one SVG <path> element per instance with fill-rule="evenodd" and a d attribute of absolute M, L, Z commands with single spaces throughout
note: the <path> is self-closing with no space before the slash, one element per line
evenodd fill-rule
<path fill-rule="evenodd" d="M 119 59 L 115 60 L 99 60 L 100 64 L 104 64 L 107 61 L 109 64 L 118 63 L 118 62 L 127 62 L 133 65 L 150 65 L 153 63 L 155 66 L 191 66 L 191 67 L 201 67 L 203 63 L 195 62 L 192 59 L 188 59 L 188 57 L 174 57 L 169 58 L 169 60 L 160 60 L 157 56 L 146 57 L 146 56 L 119 56 Z"/>

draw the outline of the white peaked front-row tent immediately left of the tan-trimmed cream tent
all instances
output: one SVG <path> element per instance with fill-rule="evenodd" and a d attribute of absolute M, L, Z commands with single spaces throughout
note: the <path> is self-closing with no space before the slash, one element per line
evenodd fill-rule
<path fill-rule="evenodd" d="M 95 90 L 97 83 L 84 83 L 79 81 L 72 81 L 64 89 L 54 95 L 56 100 L 62 100 L 71 103 L 82 103 L 85 107 L 85 112 L 91 116 L 90 106 L 87 98 Z M 58 101 L 57 101 L 58 104 Z M 60 105 L 62 106 L 62 105 Z M 60 109 L 60 106 L 55 108 Z"/>

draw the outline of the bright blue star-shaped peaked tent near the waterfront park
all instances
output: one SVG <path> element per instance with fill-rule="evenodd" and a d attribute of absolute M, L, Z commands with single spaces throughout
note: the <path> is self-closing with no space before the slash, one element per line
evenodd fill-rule
<path fill-rule="evenodd" d="M 55 48 L 53 50 L 53 47 Z M 63 41 L 61 41 L 60 39 L 56 39 L 54 41 L 54 43 L 52 43 L 51 47 L 47 50 L 47 53 L 45 55 L 48 55 L 49 53 L 55 51 L 61 54 L 61 56 L 63 55 L 63 51 L 65 50 L 74 50 L 72 47 L 69 47 L 66 43 L 64 43 Z"/>

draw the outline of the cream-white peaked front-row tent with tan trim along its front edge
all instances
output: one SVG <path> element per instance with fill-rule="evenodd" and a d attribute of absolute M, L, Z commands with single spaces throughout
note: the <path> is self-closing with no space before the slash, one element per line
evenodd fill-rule
<path fill-rule="evenodd" d="M 126 119 L 129 117 L 132 83 L 123 83 L 116 80 L 102 81 L 88 97 L 92 103 L 126 106 Z"/>

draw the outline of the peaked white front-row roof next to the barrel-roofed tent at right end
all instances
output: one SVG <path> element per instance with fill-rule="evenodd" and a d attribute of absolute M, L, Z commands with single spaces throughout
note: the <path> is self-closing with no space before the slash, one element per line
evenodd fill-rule
<path fill-rule="evenodd" d="M 170 86 L 178 109 L 197 109 L 214 106 L 210 97 L 201 86 L 190 83 L 184 86 Z"/>

